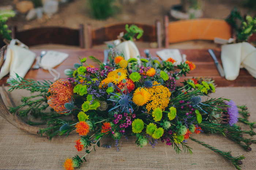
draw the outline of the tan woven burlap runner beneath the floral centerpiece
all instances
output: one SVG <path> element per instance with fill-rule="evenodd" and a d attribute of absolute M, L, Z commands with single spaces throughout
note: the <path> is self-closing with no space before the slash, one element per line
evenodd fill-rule
<path fill-rule="evenodd" d="M 19 91 L 23 92 L 24 91 Z M 3 94 L 3 93 L 1 93 Z M 12 92 L 12 96 L 18 100 L 18 92 Z M 247 104 L 251 112 L 250 121 L 256 120 L 256 87 L 223 87 L 217 88 L 211 97 L 233 99 L 238 105 Z M 17 102 L 17 101 L 16 101 Z M 242 125 L 243 129 L 249 129 Z M 12 126 L 0 117 L 0 169 L 63 169 L 65 158 L 74 157 L 76 154 L 83 156 L 84 151 L 77 152 L 75 140 L 78 135 L 69 137 L 55 137 L 50 142 L 45 137 L 25 133 Z M 244 170 L 256 169 L 256 146 L 251 145 L 252 151 L 246 152 L 236 143 L 220 135 L 193 134 L 193 138 L 199 139 L 209 145 L 223 151 L 232 151 L 233 156 L 245 155 Z M 254 138 L 256 139 L 256 138 Z M 231 162 L 223 159 L 205 147 L 188 140 L 193 154 L 176 154 L 172 146 L 167 146 L 159 141 L 153 149 L 147 145 L 142 149 L 135 144 L 135 138 L 129 137 L 120 140 L 120 150 L 117 152 L 114 142 L 111 149 L 95 147 L 86 156 L 81 169 L 90 170 L 231 170 L 235 169 Z M 109 139 L 101 141 L 101 145 L 110 143 Z"/>

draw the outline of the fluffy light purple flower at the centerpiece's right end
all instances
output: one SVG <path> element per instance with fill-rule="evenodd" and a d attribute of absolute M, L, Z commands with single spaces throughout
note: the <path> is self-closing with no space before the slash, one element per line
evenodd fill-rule
<path fill-rule="evenodd" d="M 233 124 L 237 123 L 238 121 L 238 109 L 236 106 L 236 103 L 233 100 L 230 100 L 230 102 L 226 103 L 227 106 L 227 114 L 229 115 L 229 124 L 230 126 L 233 126 Z"/>

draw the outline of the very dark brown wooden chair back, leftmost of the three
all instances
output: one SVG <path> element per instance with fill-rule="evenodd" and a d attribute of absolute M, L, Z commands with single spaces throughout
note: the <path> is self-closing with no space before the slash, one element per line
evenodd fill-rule
<path fill-rule="evenodd" d="M 13 39 L 18 39 L 27 46 L 39 44 L 64 44 L 84 48 L 84 27 L 79 29 L 63 27 L 41 27 L 32 28 L 17 32 L 16 27 L 12 28 Z"/>

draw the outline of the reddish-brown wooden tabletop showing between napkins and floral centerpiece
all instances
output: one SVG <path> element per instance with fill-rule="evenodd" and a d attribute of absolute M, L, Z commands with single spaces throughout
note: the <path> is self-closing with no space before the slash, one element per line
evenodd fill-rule
<path fill-rule="evenodd" d="M 45 49 L 47 51 L 47 49 Z M 162 50 L 157 48 L 149 49 L 150 53 L 153 56 L 156 56 L 156 52 Z M 40 54 L 42 49 L 40 50 L 32 50 L 37 55 Z M 55 67 L 58 72 L 61 74 L 61 79 L 67 79 L 67 76 L 64 75 L 63 71 L 66 68 L 72 68 L 74 63 L 79 63 L 79 57 L 84 58 L 88 56 L 95 56 L 99 60 L 103 61 L 103 51 L 104 49 L 56 49 L 55 51 L 65 52 L 69 54 L 69 57 L 61 63 L 59 66 Z M 139 49 L 140 54 L 145 56 L 144 49 Z M 207 49 L 203 50 L 180 50 L 181 54 L 187 55 L 187 60 L 195 63 L 196 69 L 191 71 L 190 74 L 187 74 L 187 77 L 181 77 L 180 82 L 187 78 L 192 77 L 209 77 L 215 80 L 215 84 L 218 87 L 233 87 L 233 86 L 256 86 L 256 79 L 253 78 L 245 69 L 240 69 L 239 76 L 236 80 L 229 81 L 225 78 L 219 76 L 219 73 L 215 67 L 214 60 L 211 58 Z M 215 55 L 217 56 L 219 62 L 221 62 L 221 49 L 214 50 Z M 91 60 L 87 59 L 87 64 L 92 64 L 97 67 Z M 2 80 L 0 80 L 0 84 L 6 82 L 8 76 L 5 76 Z M 48 72 L 48 70 L 43 70 L 39 68 L 38 70 L 29 70 L 25 76 L 26 79 L 35 79 L 35 80 L 53 80 L 52 75 Z"/>

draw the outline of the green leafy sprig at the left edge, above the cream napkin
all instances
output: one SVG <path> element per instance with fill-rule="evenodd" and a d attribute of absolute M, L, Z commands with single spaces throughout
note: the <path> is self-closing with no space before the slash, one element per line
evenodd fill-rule
<path fill-rule="evenodd" d="M 8 25 L 6 25 L 5 23 L 8 20 L 8 18 L 14 16 L 15 12 L 12 10 L 0 10 L 0 34 L 2 35 L 3 38 L 8 40 L 12 39 L 10 36 L 11 30 L 8 29 Z"/>

